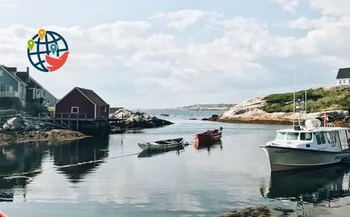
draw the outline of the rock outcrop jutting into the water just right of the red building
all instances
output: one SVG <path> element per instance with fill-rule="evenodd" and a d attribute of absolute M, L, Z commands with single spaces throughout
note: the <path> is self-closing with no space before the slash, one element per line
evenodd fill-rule
<path fill-rule="evenodd" d="M 122 120 L 125 128 L 155 128 L 173 124 L 170 121 L 159 119 L 143 112 L 132 112 L 121 108 L 110 114 L 110 118 Z"/>

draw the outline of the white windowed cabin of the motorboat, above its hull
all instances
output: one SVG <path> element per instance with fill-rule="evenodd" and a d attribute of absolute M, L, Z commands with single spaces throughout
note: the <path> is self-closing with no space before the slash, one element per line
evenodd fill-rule
<path fill-rule="evenodd" d="M 273 143 L 293 148 L 342 151 L 349 148 L 348 128 L 319 128 L 317 130 L 278 130 Z"/>

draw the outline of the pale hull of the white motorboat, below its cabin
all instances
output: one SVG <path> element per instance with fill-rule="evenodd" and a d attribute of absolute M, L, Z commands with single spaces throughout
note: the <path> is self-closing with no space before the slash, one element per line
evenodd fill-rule
<path fill-rule="evenodd" d="M 271 171 L 336 164 L 349 155 L 347 151 L 328 152 L 275 146 L 261 146 L 261 148 L 269 159 Z"/>

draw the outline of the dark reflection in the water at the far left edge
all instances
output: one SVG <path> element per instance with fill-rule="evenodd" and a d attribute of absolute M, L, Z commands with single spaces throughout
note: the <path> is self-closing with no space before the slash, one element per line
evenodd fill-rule
<path fill-rule="evenodd" d="M 44 149 L 36 145 L 0 148 L 0 202 L 13 201 L 14 188 L 25 188 L 41 173 Z"/>

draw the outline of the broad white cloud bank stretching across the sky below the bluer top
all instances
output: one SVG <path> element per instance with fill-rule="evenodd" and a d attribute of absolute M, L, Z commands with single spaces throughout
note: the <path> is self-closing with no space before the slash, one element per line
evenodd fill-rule
<path fill-rule="evenodd" d="M 178 13 L 155 16 L 169 14 Z M 173 25 L 185 28 L 198 21 L 198 14 Z M 186 16 L 172 19 L 182 19 L 178 17 Z M 350 65 L 350 18 L 345 15 L 292 21 L 291 27 L 307 30 L 302 37 L 273 34 L 267 23 L 234 17 L 215 24 L 222 34 L 202 43 L 188 43 L 181 32 L 156 30 L 152 21 L 45 27 L 66 38 L 71 55 L 58 72 L 31 68 L 31 74 L 58 97 L 82 86 L 96 90 L 112 105 L 170 107 L 235 103 L 289 91 L 293 73 L 303 76 L 305 66 L 310 86 L 332 85 L 337 69 Z M 19 25 L 0 29 L 2 64 L 28 66 L 25 44 L 36 31 Z"/>

